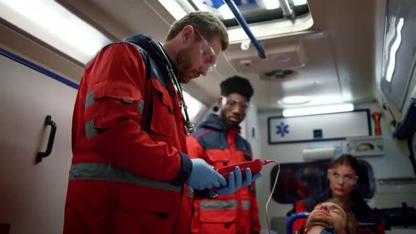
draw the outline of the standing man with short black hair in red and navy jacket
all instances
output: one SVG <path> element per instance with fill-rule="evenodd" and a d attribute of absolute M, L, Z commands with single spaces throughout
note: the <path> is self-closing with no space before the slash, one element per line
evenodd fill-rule
<path fill-rule="evenodd" d="M 221 82 L 220 115 L 209 114 L 187 137 L 191 158 L 204 159 L 215 168 L 252 160 L 250 144 L 238 133 L 253 92 L 245 78 L 234 76 Z M 215 200 L 197 198 L 194 207 L 192 233 L 250 234 L 262 229 L 254 183 Z"/>

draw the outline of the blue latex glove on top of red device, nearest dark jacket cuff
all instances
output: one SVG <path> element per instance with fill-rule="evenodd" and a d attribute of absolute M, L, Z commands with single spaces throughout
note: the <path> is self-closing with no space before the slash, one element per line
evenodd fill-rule
<path fill-rule="evenodd" d="M 227 185 L 227 180 L 215 171 L 214 166 L 209 165 L 204 159 L 191 160 L 192 172 L 186 181 L 187 185 L 195 190 L 205 190 Z"/>

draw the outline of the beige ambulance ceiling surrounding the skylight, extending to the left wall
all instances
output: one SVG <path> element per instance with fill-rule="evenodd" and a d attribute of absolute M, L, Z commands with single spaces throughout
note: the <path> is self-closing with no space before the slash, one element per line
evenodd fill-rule
<path fill-rule="evenodd" d="M 56 1 L 116 39 L 145 33 L 163 41 L 176 19 L 173 15 L 178 13 L 173 8 L 166 10 L 161 4 L 168 0 Z M 310 0 L 307 4 L 302 0 L 270 1 L 275 4 L 273 7 L 276 3 L 287 3 L 292 9 L 289 13 L 282 5 L 267 6 L 267 1 L 234 2 L 249 22 L 267 59 L 259 58 L 235 19 L 224 16 L 224 10 L 214 7 L 216 1 L 176 0 L 183 13 L 204 4 L 203 10 L 224 18 L 231 41 L 229 49 L 221 53 L 216 70 L 184 85 L 192 96 L 207 105 L 213 104 L 219 96 L 219 83 L 231 75 L 242 75 L 255 87 L 252 101 L 259 111 L 374 99 L 373 90 L 377 87 L 374 80 L 380 76 L 384 38 L 384 0 Z M 3 26 L 0 30 L 2 44 L 79 82 L 81 66 L 74 69 L 73 61 L 58 59 L 59 54 L 54 55 L 55 59 L 44 53 L 39 56 L 39 44 L 23 45 L 20 37 L 4 33 Z M 288 97 L 293 96 L 302 100 L 301 104 L 280 102 L 285 98 L 290 103 L 293 99 Z"/>

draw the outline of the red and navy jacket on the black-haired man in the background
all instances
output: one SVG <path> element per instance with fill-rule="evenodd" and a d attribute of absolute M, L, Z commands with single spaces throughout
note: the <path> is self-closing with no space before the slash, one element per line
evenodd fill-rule
<path fill-rule="evenodd" d="M 187 137 L 189 155 L 204 159 L 216 169 L 250 161 L 250 144 L 238 132 L 239 129 L 226 130 L 219 117 L 211 113 Z M 220 195 L 215 200 L 195 198 L 194 207 L 192 233 L 250 234 L 262 229 L 254 182 L 233 195 Z"/>

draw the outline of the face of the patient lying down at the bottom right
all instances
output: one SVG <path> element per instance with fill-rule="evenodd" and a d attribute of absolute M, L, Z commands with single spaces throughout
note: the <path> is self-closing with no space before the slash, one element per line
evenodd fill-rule
<path fill-rule="evenodd" d="M 317 204 L 306 222 L 307 230 L 314 226 L 322 226 L 324 228 L 334 226 L 337 233 L 346 233 L 347 214 L 345 214 L 342 207 L 333 202 Z"/>

